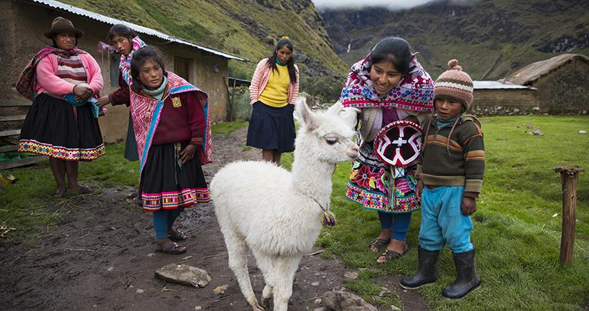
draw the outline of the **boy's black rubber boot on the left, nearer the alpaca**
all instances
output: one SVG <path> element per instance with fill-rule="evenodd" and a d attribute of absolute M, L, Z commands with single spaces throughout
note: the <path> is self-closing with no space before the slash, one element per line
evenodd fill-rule
<path fill-rule="evenodd" d="M 417 248 L 417 256 L 419 258 L 419 267 L 417 268 L 416 274 L 414 276 L 405 276 L 401 279 L 401 287 L 405 288 L 405 290 L 415 290 L 416 288 L 421 288 L 423 285 L 432 284 L 439 277 L 437 263 L 440 251 L 430 252 L 428 249 L 419 246 Z"/>

